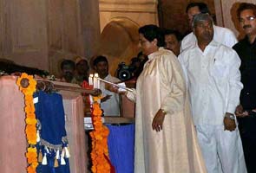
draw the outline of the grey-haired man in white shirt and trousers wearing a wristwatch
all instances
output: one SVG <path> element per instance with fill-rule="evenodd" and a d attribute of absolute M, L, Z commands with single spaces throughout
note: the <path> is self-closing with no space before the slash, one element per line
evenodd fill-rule
<path fill-rule="evenodd" d="M 240 58 L 213 40 L 213 19 L 194 16 L 196 44 L 179 55 L 208 173 L 246 173 L 234 111 L 240 102 Z M 220 162 L 220 163 L 219 163 Z"/>

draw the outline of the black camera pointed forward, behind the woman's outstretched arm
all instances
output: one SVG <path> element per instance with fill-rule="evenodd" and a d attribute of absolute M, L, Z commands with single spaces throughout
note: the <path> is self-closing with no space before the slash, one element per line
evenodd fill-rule
<path fill-rule="evenodd" d="M 134 66 L 126 65 L 125 62 L 121 62 L 118 65 L 116 76 L 121 81 L 129 80 L 134 76 L 133 74 L 134 71 L 135 71 Z"/>

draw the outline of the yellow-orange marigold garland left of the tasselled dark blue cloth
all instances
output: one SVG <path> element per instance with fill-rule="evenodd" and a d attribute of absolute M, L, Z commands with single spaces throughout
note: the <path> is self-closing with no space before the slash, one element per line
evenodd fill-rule
<path fill-rule="evenodd" d="M 22 85 L 25 84 L 25 86 Z M 36 173 L 37 151 L 36 151 L 36 114 L 33 103 L 33 93 L 36 92 L 36 80 L 32 75 L 22 74 L 17 80 L 16 85 L 19 86 L 20 91 L 24 94 L 25 112 L 26 112 L 26 137 L 29 147 L 27 148 L 26 157 L 28 162 L 27 172 Z"/>

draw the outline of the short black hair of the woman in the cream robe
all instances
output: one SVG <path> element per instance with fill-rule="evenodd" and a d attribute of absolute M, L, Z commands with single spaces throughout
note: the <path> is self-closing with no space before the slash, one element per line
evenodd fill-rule
<path fill-rule="evenodd" d="M 156 39 L 158 47 L 164 46 L 163 32 L 158 26 L 154 24 L 145 25 L 139 29 L 139 33 L 144 35 L 144 37 L 149 42 L 152 42 L 154 39 Z"/>

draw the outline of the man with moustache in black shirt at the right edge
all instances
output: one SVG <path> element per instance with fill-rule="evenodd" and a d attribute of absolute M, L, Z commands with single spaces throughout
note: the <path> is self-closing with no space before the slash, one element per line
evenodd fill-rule
<path fill-rule="evenodd" d="M 246 37 L 233 49 L 241 59 L 241 81 L 244 85 L 240 94 L 240 106 L 236 108 L 240 136 L 244 147 L 248 173 L 256 172 L 256 5 L 240 3 L 237 10 L 240 26 Z"/>

